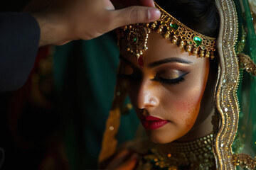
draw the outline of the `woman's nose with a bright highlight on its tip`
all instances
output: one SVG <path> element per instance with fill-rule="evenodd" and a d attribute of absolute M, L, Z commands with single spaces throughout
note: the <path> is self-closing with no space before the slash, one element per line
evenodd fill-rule
<path fill-rule="evenodd" d="M 143 109 L 158 106 L 159 98 L 157 95 L 157 88 L 153 81 L 142 82 L 137 91 L 137 107 Z"/>

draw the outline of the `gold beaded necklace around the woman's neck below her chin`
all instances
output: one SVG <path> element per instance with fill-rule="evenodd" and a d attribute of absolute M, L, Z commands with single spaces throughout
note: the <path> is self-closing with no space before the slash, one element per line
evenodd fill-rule
<path fill-rule="evenodd" d="M 153 145 L 148 154 L 139 158 L 137 169 L 215 169 L 213 134 L 191 142 Z"/>

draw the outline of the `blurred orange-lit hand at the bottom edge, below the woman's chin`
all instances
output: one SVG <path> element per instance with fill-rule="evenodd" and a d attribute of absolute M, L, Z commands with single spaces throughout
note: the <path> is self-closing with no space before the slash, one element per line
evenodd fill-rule
<path fill-rule="evenodd" d="M 137 154 L 132 154 L 128 150 L 122 150 L 119 152 L 114 159 L 108 164 L 106 169 L 115 169 L 115 170 L 131 170 L 134 169 L 137 163 Z"/>

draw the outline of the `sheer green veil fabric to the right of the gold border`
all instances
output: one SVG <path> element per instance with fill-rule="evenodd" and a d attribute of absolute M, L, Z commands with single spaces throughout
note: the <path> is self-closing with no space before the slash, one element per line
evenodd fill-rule
<path fill-rule="evenodd" d="M 253 19 L 256 18 L 252 18 L 249 1 L 235 0 L 235 5 L 239 23 L 236 53 L 244 53 L 256 63 L 256 35 L 252 23 Z M 233 143 L 233 152 L 235 154 L 249 154 L 253 158 L 256 156 L 256 79 L 245 69 L 240 69 L 238 100 L 240 113 L 238 132 Z"/>

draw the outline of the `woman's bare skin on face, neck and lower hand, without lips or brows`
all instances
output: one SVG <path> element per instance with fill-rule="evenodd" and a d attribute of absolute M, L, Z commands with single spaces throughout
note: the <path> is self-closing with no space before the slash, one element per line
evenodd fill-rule
<path fill-rule="evenodd" d="M 209 59 L 189 55 L 154 32 L 149 35 L 149 50 L 144 52 L 142 68 L 137 57 L 127 52 L 126 44 L 127 42 L 122 42 L 119 76 L 127 81 L 127 91 L 138 117 L 152 115 L 169 120 L 169 123 L 159 129 L 146 130 L 149 139 L 160 143 L 159 149 L 166 149 L 170 142 L 196 140 L 212 132 L 210 121 L 214 111 L 218 68 L 210 68 Z M 149 67 L 151 63 L 174 57 L 187 63 L 167 62 Z M 185 81 L 178 84 L 163 84 L 152 80 L 156 75 L 174 79 L 183 73 L 188 73 L 183 77 Z M 136 75 L 137 79 L 131 79 L 129 75 Z M 107 169 L 134 169 L 137 157 L 138 154 L 123 150 L 112 159 Z"/>

